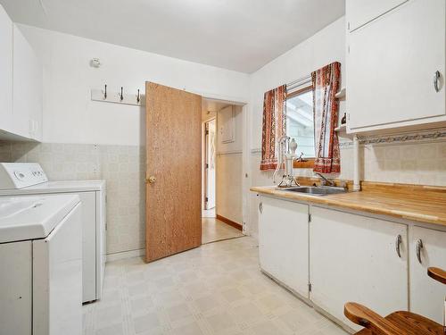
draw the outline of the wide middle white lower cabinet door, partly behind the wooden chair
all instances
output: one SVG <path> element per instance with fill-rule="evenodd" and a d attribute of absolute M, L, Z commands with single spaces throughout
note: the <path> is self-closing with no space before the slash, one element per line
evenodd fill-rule
<path fill-rule="evenodd" d="M 310 299 L 317 306 L 355 329 L 343 315 L 349 301 L 382 315 L 408 309 L 406 225 L 315 206 L 310 213 Z"/>

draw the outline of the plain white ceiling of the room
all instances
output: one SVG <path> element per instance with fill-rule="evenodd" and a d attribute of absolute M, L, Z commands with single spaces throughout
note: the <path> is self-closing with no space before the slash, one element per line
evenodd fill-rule
<path fill-rule="evenodd" d="M 343 16 L 344 0 L 0 0 L 13 21 L 251 73 Z"/>

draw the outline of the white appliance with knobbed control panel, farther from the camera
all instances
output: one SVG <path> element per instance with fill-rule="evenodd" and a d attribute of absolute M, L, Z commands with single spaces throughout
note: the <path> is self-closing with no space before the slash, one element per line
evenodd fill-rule
<path fill-rule="evenodd" d="M 38 163 L 0 163 L 0 198 L 71 194 L 82 203 L 82 302 L 100 299 L 106 257 L 105 180 L 48 181 Z"/>

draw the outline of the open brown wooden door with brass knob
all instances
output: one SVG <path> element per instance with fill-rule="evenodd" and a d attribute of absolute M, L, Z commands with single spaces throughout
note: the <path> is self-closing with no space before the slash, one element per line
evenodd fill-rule
<path fill-rule="evenodd" d="M 145 260 L 202 244 L 202 96 L 145 84 Z"/>

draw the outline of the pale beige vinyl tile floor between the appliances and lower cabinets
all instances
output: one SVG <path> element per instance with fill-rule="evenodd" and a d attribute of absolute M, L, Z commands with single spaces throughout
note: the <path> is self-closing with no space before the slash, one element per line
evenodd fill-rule
<path fill-rule="evenodd" d="M 249 237 L 107 263 L 103 298 L 83 319 L 84 335 L 345 334 L 260 272 Z"/>

